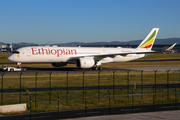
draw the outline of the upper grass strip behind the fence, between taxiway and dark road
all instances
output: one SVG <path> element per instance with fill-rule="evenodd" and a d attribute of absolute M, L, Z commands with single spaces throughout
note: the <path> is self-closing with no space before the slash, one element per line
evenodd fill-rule
<path fill-rule="evenodd" d="M 154 84 L 154 71 L 143 72 L 143 84 Z M 2 78 L 0 78 L 1 81 Z M 157 71 L 156 72 L 157 84 L 167 83 L 167 72 Z M 169 72 L 170 83 L 179 83 L 179 71 Z M 22 88 L 35 88 L 35 74 L 22 74 L 21 75 L 21 87 Z M 66 87 L 67 86 L 67 73 L 52 73 L 51 81 L 50 74 L 37 74 L 37 87 Z M 141 84 L 141 72 L 129 72 L 129 83 L 130 85 Z M 126 85 L 127 84 L 127 72 L 115 72 L 114 74 L 115 85 Z M 68 74 L 68 86 L 82 86 L 83 85 L 83 74 L 82 73 L 69 73 Z M 98 85 L 98 73 L 85 73 L 84 74 L 84 85 L 85 86 L 97 86 Z M 101 72 L 100 73 L 100 85 L 113 85 L 113 72 Z M 0 86 L 1 88 L 1 86 Z M 20 75 L 4 75 L 3 76 L 3 88 L 20 88 Z"/>

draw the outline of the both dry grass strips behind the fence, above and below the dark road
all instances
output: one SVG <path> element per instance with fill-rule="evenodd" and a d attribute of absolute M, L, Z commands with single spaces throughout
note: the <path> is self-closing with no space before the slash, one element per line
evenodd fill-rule
<path fill-rule="evenodd" d="M 68 86 L 82 86 L 83 85 L 83 74 L 82 73 L 69 73 L 68 74 Z M 20 88 L 20 75 L 4 75 L 3 76 L 3 88 Z M 114 74 L 114 85 L 127 85 L 127 72 L 115 72 Z M 155 74 L 154 72 L 143 72 L 143 84 L 154 84 Z M 2 81 L 2 78 L 0 79 Z M 21 76 L 21 87 L 22 88 L 35 88 L 35 75 L 33 74 L 22 74 Z M 179 83 L 179 71 L 169 72 L 169 83 Z M 167 83 L 167 72 L 157 71 L 156 73 L 156 83 L 166 84 Z M 141 72 L 130 72 L 129 73 L 129 85 L 141 84 Z M 49 74 L 38 74 L 37 75 L 37 87 L 50 87 Z M 98 73 L 85 73 L 84 74 L 84 85 L 85 86 L 98 86 Z M 112 72 L 101 72 L 100 73 L 100 86 L 113 85 L 113 73 Z M 67 74 L 51 74 L 51 87 L 66 87 L 67 86 Z M 0 86 L 1 87 L 1 86 Z M 0 88 L 1 89 L 1 88 Z M 133 89 L 134 94 L 139 94 L 134 96 L 134 105 L 138 104 L 152 104 L 153 103 L 153 91 L 152 89 L 143 89 L 143 99 L 141 99 L 141 89 Z M 129 93 L 131 94 L 131 90 Z M 174 89 L 169 89 L 169 99 L 167 98 L 167 89 L 157 89 L 156 103 L 174 102 L 175 93 Z M 177 89 L 178 91 L 180 89 Z M 108 107 L 109 98 L 107 90 L 100 90 L 100 101 L 98 102 L 98 90 L 85 90 L 87 92 L 87 108 L 95 107 Z M 132 96 L 127 97 L 127 89 L 115 89 L 114 95 L 115 99 L 111 97 L 111 106 L 125 106 L 132 105 Z M 32 97 L 32 112 L 47 112 L 47 111 L 57 111 L 57 93 L 60 96 L 60 110 L 73 110 L 73 109 L 83 109 L 84 103 L 82 98 L 83 90 L 79 91 L 68 91 L 68 104 L 67 104 L 67 91 L 52 91 L 50 92 L 37 92 L 37 107 L 35 107 L 35 92 L 29 91 Z M 110 90 L 111 95 L 113 90 Z M 49 104 L 49 96 L 51 95 L 51 105 Z M 177 100 L 180 101 L 178 93 Z M 1 100 L 1 96 L 0 96 Z M 19 103 L 20 93 L 8 93 L 3 94 L 3 104 L 14 104 Z M 21 102 L 28 103 L 29 110 L 29 95 L 26 93 L 21 93 Z M 29 111 L 23 112 L 28 113 Z M 18 113 L 9 113 L 18 114 Z M 20 113 L 22 114 L 22 112 Z"/>

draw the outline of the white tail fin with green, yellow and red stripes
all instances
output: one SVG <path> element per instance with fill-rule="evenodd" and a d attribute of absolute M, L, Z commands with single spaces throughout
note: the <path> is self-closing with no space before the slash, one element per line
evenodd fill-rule
<path fill-rule="evenodd" d="M 158 31 L 159 28 L 153 28 L 137 48 L 151 50 Z"/>

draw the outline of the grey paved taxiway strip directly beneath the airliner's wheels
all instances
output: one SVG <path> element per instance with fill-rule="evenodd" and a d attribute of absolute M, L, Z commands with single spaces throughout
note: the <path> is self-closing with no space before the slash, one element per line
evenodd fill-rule
<path fill-rule="evenodd" d="M 103 67 L 101 72 L 123 72 L 123 71 L 179 71 L 180 66 L 147 66 L 147 67 Z M 23 73 L 25 74 L 34 74 L 34 73 L 81 73 L 81 72 L 99 72 L 99 70 L 92 70 L 92 69 L 79 69 L 75 67 L 60 67 L 60 68 L 27 68 L 27 70 Z M 21 72 L 7 72 L 7 71 L 0 71 L 0 73 L 4 74 L 19 74 Z"/>

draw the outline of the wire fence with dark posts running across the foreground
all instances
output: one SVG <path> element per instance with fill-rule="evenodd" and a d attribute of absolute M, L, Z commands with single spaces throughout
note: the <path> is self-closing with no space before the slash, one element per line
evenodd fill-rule
<path fill-rule="evenodd" d="M 28 112 L 180 101 L 180 70 L 2 73 L 1 105 L 27 103 Z M 142 111 L 140 111 L 142 112 Z M 85 115 L 86 116 L 86 115 Z"/>

